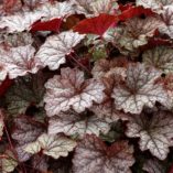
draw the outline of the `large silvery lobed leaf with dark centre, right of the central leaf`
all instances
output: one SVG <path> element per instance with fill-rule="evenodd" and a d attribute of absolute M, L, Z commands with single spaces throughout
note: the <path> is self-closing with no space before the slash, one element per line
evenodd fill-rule
<path fill-rule="evenodd" d="M 142 64 L 129 65 L 127 69 L 126 85 L 113 88 L 112 98 L 117 109 L 125 112 L 140 113 L 143 106 L 152 108 L 155 101 L 171 107 L 169 95 L 155 79 L 161 76 L 159 71 L 147 68 Z"/>

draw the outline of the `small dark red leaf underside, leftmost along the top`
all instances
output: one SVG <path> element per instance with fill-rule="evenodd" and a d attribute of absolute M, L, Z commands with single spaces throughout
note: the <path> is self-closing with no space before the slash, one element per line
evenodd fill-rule
<path fill-rule="evenodd" d="M 51 21 L 39 21 L 32 24 L 31 31 L 54 31 L 57 32 L 60 30 L 60 26 L 62 24 L 62 19 L 53 19 Z"/>

